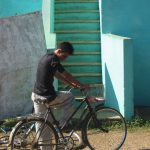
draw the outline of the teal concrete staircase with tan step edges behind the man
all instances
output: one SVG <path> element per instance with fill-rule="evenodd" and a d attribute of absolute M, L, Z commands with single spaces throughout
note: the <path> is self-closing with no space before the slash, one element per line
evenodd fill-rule
<path fill-rule="evenodd" d="M 101 86 L 99 20 L 98 0 L 55 0 L 57 43 L 69 41 L 75 48 L 63 65 L 79 81 Z"/>

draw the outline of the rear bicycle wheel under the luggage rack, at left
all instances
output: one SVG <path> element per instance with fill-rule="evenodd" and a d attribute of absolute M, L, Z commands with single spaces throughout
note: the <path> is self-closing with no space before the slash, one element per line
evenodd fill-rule
<path fill-rule="evenodd" d="M 57 144 L 58 135 L 53 125 L 38 117 L 19 121 L 9 138 L 10 150 L 40 150 L 41 148 L 56 150 Z"/>

